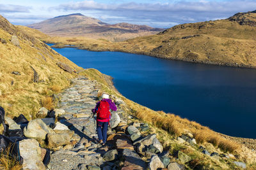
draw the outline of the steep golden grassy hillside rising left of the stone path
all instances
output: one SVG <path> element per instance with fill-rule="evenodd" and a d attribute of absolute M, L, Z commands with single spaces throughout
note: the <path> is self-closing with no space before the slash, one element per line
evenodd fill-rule
<path fill-rule="evenodd" d="M 12 43 L 14 35 L 18 46 Z M 68 64 L 74 70 L 81 69 L 1 16 L 0 39 L 0 106 L 9 117 L 20 113 L 28 118 L 35 117 L 45 97 L 70 85 L 69 78 L 76 73 L 64 71 L 57 62 Z M 38 73 L 38 82 L 33 81 L 33 69 Z"/>

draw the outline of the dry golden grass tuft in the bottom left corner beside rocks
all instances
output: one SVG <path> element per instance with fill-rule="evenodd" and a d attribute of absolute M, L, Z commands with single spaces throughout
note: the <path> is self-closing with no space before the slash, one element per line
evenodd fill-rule
<path fill-rule="evenodd" d="M 9 156 L 10 152 L 12 152 L 12 146 L 8 146 L 6 150 L 0 153 L 0 169 L 22 169 L 22 165 L 19 163 L 19 161 Z"/>

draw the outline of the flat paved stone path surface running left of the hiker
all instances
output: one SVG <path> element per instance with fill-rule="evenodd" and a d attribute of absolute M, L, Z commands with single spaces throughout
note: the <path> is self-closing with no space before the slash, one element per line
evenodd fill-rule
<path fill-rule="evenodd" d="M 61 115 L 60 122 L 75 131 L 75 137 L 80 141 L 74 146 L 66 146 L 53 152 L 49 169 L 85 169 L 85 165 L 100 166 L 104 162 L 100 154 L 108 150 L 102 149 L 95 142 L 97 134 L 91 110 L 97 103 L 99 85 L 83 77 L 73 79 L 72 83 L 73 86 L 60 96 L 59 108 L 66 112 Z M 65 148 L 67 149 L 64 150 Z"/>

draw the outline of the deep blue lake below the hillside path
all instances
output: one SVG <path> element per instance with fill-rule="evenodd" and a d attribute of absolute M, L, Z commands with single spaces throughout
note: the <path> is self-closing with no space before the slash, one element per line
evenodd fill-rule
<path fill-rule="evenodd" d="M 193 64 L 122 52 L 54 48 L 84 68 L 112 76 L 125 97 L 212 130 L 256 138 L 256 70 Z"/>

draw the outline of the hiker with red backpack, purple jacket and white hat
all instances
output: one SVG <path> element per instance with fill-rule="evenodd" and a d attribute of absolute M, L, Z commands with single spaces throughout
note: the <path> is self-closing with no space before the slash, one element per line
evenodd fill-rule
<path fill-rule="evenodd" d="M 99 101 L 95 108 L 92 109 L 93 113 L 97 113 L 97 134 L 99 143 L 105 145 L 107 141 L 107 131 L 111 113 L 109 110 L 116 111 L 116 105 L 109 99 L 108 94 L 102 95 L 102 100 Z"/>

